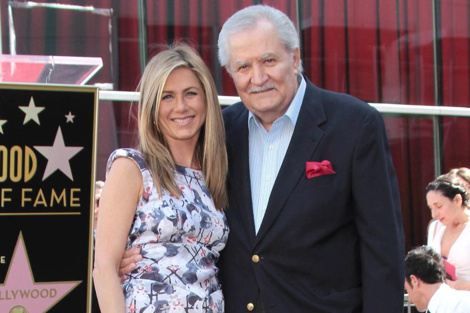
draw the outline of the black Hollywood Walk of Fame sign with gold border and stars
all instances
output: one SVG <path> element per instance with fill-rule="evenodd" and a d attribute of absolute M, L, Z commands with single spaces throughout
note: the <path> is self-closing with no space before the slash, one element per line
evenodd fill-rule
<path fill-rule="evenodd" d="M 0 84 L 0 313 L 90 312 L 97 94 Z"/>

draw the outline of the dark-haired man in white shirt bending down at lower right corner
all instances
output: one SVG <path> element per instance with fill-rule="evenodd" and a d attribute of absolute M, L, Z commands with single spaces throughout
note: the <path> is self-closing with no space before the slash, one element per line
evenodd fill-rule
<path fill-rule="evenodd" d="M 444 263 L 426 246 L 414 248 L 405 258 L 405 288 L 419 312 L 468 313 L 470 291 L 457 291 L 445 283 Z"/>

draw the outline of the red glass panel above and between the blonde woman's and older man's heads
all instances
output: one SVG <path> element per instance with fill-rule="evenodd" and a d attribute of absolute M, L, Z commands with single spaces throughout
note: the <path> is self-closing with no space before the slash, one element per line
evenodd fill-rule
<path fill-rule="evenodd" d="M 186 41 L 194 45 L 211 69 L 218 92 L 236 95 L 232 79 L 217 59 L 217 40 L 223 23 L 254 0 L 162 0 L 147 1 L 148 43 L 151 55 L 168 43 Z M 285 1 L 278 1 L 285 3 Z M 294 11 L 295 13 L 295 11 Z"/>

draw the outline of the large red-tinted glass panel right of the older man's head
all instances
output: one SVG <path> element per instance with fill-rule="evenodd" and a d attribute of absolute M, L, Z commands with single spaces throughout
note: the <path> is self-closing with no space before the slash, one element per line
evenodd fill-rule
<path fill-rule="evenodd" d="M 430 1 L 303 1 L 305 74 L 364 101 L 433 104 Z"/>

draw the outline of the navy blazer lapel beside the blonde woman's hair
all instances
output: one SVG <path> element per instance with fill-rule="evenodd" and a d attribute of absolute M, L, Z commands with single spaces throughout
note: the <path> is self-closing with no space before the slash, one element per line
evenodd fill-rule
<path fill-rule="evenodd" d="M 230 214 L 240 214 L 243 226 L 253 245 L 255 241 L 255 219 L 253 217 L 253 203 L 251 201 L 250 163 L 248 147 L 248 110 L 244 110 L 237 117 L 235 126 L 228 134 L 228 146 L 230 149 L 230 184 L 232 185 L 231 197 L 235 197 L 237 206 L 229 207 L 236 210 Z M 229 221 L 230 222 L 230 221 Z"/>

